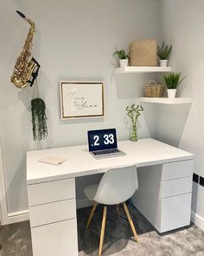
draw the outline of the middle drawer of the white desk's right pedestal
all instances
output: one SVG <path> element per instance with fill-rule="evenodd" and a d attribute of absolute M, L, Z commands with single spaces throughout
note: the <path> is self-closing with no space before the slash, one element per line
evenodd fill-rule
<path fill-rule="evenodd" d="M 192 192 L 192 176 L 177 180 L 162 181 L 161 198 L 190 192 Z"/>

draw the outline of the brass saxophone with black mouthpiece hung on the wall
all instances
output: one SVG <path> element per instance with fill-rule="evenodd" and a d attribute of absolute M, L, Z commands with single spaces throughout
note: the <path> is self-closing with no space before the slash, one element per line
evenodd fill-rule
<path fill-rule="evenodd" d="M 17 88 L 22 89 L 28 84 L 30 86 L 34 84 L 41 66 L 35 61 L 35 58 L 31 56 L 31 49 L 33 46 L 32 41 L 35 33 L 35 23 L 24 16 L 22 12 L 18 10 L 16 10 L 16 12 L 30 24 L 29 34 L 24 43 L 22 53 L 17 58 L 13 75 L 10 77 L 10 82 L 13 82 Z"/>

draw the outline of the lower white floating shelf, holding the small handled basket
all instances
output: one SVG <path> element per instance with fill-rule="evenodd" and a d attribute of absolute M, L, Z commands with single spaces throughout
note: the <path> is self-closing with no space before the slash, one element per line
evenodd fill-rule
<path fill-rule="evenodd" d="M 191 98 L 149 98 L 149 97 L 140 97 L 139 102 L 149 102 L 149 103 L 158 103 L 158 104 L 191 104 L 193 101 Z"/>

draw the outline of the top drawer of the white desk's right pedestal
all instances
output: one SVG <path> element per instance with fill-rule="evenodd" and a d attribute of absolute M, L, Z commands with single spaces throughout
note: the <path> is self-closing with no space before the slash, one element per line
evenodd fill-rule
<path fill-rule="evenodd" d="M 175 161 L 163 164 L 163 181 L 188 177 L 193 175 L 194 161 Z"/>

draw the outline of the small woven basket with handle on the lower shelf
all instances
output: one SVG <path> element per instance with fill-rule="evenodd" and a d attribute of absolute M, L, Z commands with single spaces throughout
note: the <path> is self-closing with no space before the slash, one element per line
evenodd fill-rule
<path fill-rule="evenodd" d="M 163 97 L 164 85 L 157 84 L 154 80 L 150 80 L 145 85 L 146 97 Z"/>

